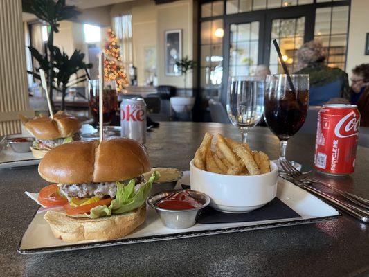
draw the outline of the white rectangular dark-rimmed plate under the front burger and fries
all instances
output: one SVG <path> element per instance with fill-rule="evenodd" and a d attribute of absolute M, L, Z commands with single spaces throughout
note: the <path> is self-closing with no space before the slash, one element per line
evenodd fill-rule
<path fill-rule="evenodd" d="M 180 184 L 190 184 L 189 172 L 183 172 L 183 179 Z M 195 224 L 189 229 L 174 230 L 168 229 L 161 223 L 158 215 L 152 208 L 147 210 L 147 219 L 136 231 L 125 238 L 109 241 L 92 241 L 84 243 L 63 242 L 54 238 L 46 220 L 44 213 L 38 213 L 28 226 L 26 233 L 17 248 L 19 253 L 51 253 L 60 251 L 71 251 L 78 249 L 89 249 L 95 247 L 108 247 L 112 245 L 130 244 L 138 242 L 150 242 L 156 240 L 170 240 L 177 238 L 188 238 L 199 235 L 215 235 L 219 233 L 232 233 L 246 230 L 265 229 L 280 226 L 305 224 L 330 220 L 339 216 L 335 208 L 316 198 L 307 191 L 294 186 L 285 179 L 278 178 L 277 197 L 287 206 L 292 208 L 301 217 L 264 220 L 258 222 L 235 222 L 221 224 Z"/>

